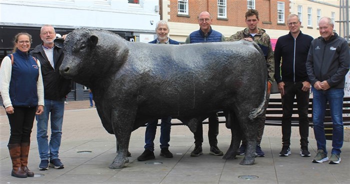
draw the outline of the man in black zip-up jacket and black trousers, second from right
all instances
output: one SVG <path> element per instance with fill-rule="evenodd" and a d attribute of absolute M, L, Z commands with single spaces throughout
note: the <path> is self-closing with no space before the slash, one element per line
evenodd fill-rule
<path fill-rule="evenodd" d="M 308 99 L 310 80 L 306 72 L 308 49 L 313 38 L 300 31 L 301 22 L 296 14 L 287 18 L 289 33 L 277 39 L 274 48 L 274 79 L 282 99 L 282 150 L 280 157 L 290 152 L 291 115 L 296 96 L 299 115 L 300 156 L 309 157 L 308 151 Z M 280 70 L 279 70 L 280 69 Z M 280 72 L 279 72 L 280 71 Z"/>

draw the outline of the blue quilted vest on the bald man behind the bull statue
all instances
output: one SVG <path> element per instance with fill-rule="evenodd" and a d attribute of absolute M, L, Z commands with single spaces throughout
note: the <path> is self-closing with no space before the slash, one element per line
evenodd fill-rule
<path fill-rule="evenodd" d="M 222 37 L 223 36 L 220 32 L 217 32 L 210 27 L 210 30 L 207 35 L 204 35 L 204 32 L 200 29 L 190 33 L 189 43 L 219 42 L 224 40 L 224 38 Z"/>

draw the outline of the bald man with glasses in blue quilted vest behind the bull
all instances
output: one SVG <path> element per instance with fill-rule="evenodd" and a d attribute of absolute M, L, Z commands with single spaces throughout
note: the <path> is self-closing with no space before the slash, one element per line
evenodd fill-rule
<path fill-rule="evenodd" d="M 200 43 L 200 42 L 218 42 L 225 41 L 225 37 L 211 28 L 212 16 L 209 12 L 203 11 L 198 15 L 199 30 L 190 33 L 185 43 Z M 210 154 L 221 156 L 223 153 L 217 148 L 218 135 L 218 117 L 216 113 L 209 116 L 208 139 L 210 145 Z M 198 124 L 197 130 L 194 133 L 194 150 L 191 152 L 191 157 L 196 157 L 201 154 L 203 143 L 203 124 Z"/>

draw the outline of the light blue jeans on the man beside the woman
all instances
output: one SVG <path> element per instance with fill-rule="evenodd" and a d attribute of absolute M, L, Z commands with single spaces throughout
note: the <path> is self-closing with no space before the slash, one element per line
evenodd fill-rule
<path fill-rule="evenodd" d="M 44 112 L 41 115 L 36 115 L 36 140 L 40 159 L 52 160 L 58 158 L 58 150 L 61 144 L 64 99 L 59 101 L 45 99 L 44 103 Z M 51 123 L 51 137 L 50 142 L 48 143 L 47 124 L 49 116 Z"/>

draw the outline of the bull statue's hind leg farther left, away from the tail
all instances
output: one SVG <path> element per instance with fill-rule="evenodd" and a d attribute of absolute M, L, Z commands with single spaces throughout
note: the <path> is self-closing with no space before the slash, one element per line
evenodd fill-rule
<path fill-rule="evenodd" d="M 241 139 L 241 131 L 236 115 L 233 111 L 225 112 L 226 127 L 231 129 L 231 144 L 222 159 L 234 159 L 237 155 Z"/>

